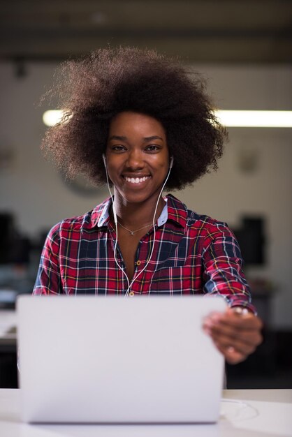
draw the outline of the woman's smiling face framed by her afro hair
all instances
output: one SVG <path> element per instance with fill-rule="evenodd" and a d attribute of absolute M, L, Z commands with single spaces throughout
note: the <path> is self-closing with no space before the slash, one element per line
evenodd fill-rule
<path fill-rule="evenodd" d="M 156 202 L 169 168 L 162 124 L 149 115 L 120 112 L 110 124 L 106 160 L 118 200 Z"/>

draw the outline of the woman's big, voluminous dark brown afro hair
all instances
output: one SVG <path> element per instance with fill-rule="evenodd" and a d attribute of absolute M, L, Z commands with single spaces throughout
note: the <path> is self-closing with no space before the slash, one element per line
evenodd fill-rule
<path fill-rule="evenodd" d="M 106 182 L 102 154 L 110 121 L 127 110 L 154 117 L 166 130 L 174 157 L 166 190 L 217 170 L 226 131 L 214 116 L 205 82 L 153 50 L 100 49 L 66 61 L 47 96 L 57 96 L 65 114 L 41 147 L 70 178 L 81 173 L 95 185 Z"/>

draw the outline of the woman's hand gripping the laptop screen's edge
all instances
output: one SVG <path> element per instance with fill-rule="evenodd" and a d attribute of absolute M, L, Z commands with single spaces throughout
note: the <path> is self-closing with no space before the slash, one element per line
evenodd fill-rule
<path fill-rule="evenodd" d="M 211 313 L 203 322 L 204 331 L 209 334 L 226 362 L 237 364 L 245 360 L 263 341 L 261 319 L 253 313 L 238 313 L 229 308 L 225 313 Z"/>

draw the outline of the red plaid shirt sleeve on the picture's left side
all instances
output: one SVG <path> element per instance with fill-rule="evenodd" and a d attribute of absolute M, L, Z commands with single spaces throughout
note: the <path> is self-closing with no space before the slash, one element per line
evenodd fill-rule
<path fill-rule="evenodd" d="M 48 233 L 41 254 L 33 295 L 59 295 L 63 293 L 59 268 L 60 223 Z"/>

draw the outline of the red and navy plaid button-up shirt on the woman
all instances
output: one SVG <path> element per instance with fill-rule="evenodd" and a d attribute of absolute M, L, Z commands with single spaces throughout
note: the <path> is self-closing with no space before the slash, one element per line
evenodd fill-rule
<path fill-rule="evenodd" d="M 131 295 L 217 294 L 230 306 L 250 303 L 238 243 L 225 223 L 198 215 L 173 195 L 156 223 L 154 252 L 131 286 Z M 84 216 L 67 218 L 50 230 L 45 241 L 35 295 L 123 295 L 126 278 L 114 258 L 115 228 L 107 199 Z M 135 274 L 145 266 L 153 244 L 153 228 L 138 244 Z M 125 268 L 117 244 L 117 260 Z"/>

